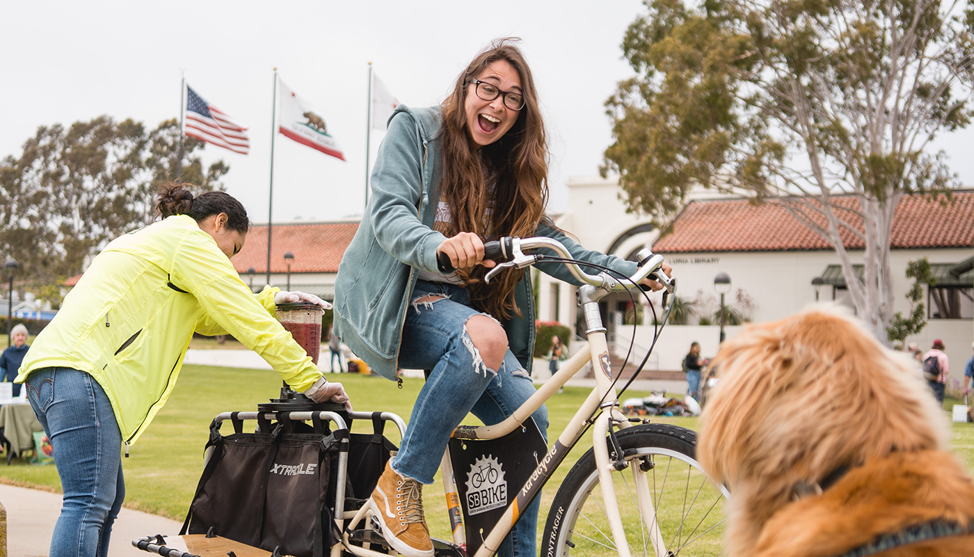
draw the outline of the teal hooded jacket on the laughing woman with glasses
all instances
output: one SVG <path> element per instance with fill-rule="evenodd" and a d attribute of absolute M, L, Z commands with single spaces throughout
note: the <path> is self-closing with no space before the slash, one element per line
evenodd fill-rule
<path fill-rule="evenodd" d="M 396 360 L 414 269 L 436 271 L 436 249 L 446 237 L 432 229 L 439 202 L 440 110 L 400 104 L 372 170 L 372 195 L 346 250 L 335 281 L 334 330 L 356 355 L 384 378 L 396 377 Z M 561 231 L 540 223 L 537 235 L 560 241 L 576 259 L 631 275 L 636 263 L 591 252 Z M 538 265 L 574 285 L 561 263 Z M 507 344 L 531 373 L 535 307 L 530 273 L 514 290 L 522 316 L 503 321 Z"/>

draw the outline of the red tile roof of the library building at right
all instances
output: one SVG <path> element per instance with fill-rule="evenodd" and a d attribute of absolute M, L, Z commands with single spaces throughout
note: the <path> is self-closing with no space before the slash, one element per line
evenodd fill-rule
<path fill-rule="evenodd" d="M 900 199 L 890 238 L 894 249 L 974 247 L 974 190 L 957 190 L 945 203 L 929 195 Z M 838 207 L 858 209 L 853 196 L 834 197 Z M 862 219 L 839 210 L 837 215 L 862 229 Z M 816 219 L 824 222 L 822 219 Z M 841 230 L 846 249 L 864 243 Z M 673 221 L 672 231 L 656 241 L 655 252 L 777 252 L 832 250 L 832 245 L 795 219 L 778 202 L 753 205 L 746 199 L 692 201 Z"/>

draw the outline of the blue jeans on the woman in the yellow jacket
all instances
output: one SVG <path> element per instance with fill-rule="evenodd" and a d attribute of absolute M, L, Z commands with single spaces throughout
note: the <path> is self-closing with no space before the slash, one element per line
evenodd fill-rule
<path fill-rule="evenodd" d="M 122 433 L 108 396 L 92 376 L 71 368 L 38 370 L 25 385 L 64 490 L 51 557 L 104 557 L 125 499 Z"/>

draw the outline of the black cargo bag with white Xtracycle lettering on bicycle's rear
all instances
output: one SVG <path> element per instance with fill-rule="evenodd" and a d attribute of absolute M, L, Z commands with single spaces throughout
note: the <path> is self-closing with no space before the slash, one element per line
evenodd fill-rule
<path fill-rule="evenodd" d="M 234 413 L 234 433 L 220 435 L 210 424 L 206 462 L 180 534 L 227 537 L 267 551 L 295 557 L 323 557 L 335 541 L 332 506 L 334 470 L 347 429 L 331 432 L 316 416 L 314 428 L 297 431 L 281 413 L 260 431 L 243 433 Z M 308 432 L 303 432 L 308 431 Z"/>

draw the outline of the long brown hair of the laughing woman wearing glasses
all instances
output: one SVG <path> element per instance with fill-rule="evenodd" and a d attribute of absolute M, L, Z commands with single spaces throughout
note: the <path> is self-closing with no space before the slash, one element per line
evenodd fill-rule
<path fill-rule="evenodd" d="M 480 52 L 457 78 L 453 93 L 443 101 L 441 195 L 453 214 L 450 234 L 473 232 L 486 239 L 533 236 L 547 205 L 547 140 L 531 68 L 513 44 L 499 39 Z M 467 129 L 465 103 L 470 81 L 492 62 L 506 60 L 521 78 L 525 105 L 505 136 L 479 149 Z M 496 183 L 490 199 L 489 184 Z M 493 202 L 493 214 L 485 219 Z M 473 303 L 499 319 L 521 315 L 514 304 L 514 287 L 523 270 L 506 271 L 488 287 L 486 269 L 460 271 Z"/>

